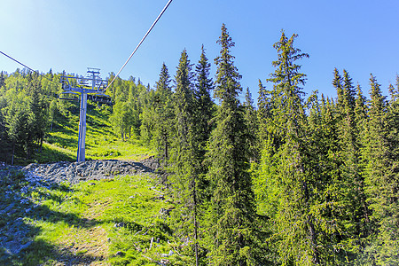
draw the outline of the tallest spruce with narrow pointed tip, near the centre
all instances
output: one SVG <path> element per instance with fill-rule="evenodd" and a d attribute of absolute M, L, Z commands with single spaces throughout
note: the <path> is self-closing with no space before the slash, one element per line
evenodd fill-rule
<path fill-rule="evenodd" d="M 209 179 L 213 197 L 209 209 L 209 260 L 214 265 L 254 264 L 254 192 L 248 173 L 249 147 L 244 110 L 239 105 L 241 75 L 234 66 L 234 43 L 222 26 L 215 98 L 220 100 L 216 129 L 208 146 Z"/>

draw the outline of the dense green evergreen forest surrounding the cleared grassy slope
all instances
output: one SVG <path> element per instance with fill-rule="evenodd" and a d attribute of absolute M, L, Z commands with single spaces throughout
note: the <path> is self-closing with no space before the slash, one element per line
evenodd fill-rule
<path fill-rule="evenodd" d="M 160 66 L 153 88 L 117 77 L 106 91 L 112 105 L 89 101 L 112 128 L 105 143 L 137 142 L 160 161 L 173 205 L 162 228 L 184 243 L 171 264 L 399 264 L 399 75 L 384 96 L 373 74 L 361 87 L 335 68 L 336 97 L 306 95 L 301 64 L 309 54 L 297 38 L 282 31 L 274 43 L 275 70 L 259 80 L 257 106 L 241 86 L 224 24 L 213 61 L 204 46 L 198 62 L 183 50 L 176 69 Z M 67 130 L 54 135 L 79 116 L 78 101 L 58 99 L 61 75 L 1 72 L 0 160 L 7 165 L 74 160 L 74 153 L 43 155 L 77 139 Z M 89 158 L 110 154 L 121 151 Z M 115 265 L 154 262 L 135 263 Z"/>

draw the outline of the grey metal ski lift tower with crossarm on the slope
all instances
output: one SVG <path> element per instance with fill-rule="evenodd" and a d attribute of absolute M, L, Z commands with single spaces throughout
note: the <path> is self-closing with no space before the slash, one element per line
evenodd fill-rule
<path fill-rule="evenodd" d="M 61 76 L 62 89 L 64 94 L 81 95 L 80 118 L 79 118 L 79 139 L 77 161 L 85 160 L 85 144 L 86 144 L 86 110 L 87 110 L 87 95 L 94 94 L 101 97 L 110 98 L 105 94 L 107 81 L 102 80 L 99 76 L 98 68 L 87 68 L 87 77 L 72 77 Z M 75 82 L 72 82 L 72 81 Z M 71 83 L 76 85 L 72 86 Z"/>

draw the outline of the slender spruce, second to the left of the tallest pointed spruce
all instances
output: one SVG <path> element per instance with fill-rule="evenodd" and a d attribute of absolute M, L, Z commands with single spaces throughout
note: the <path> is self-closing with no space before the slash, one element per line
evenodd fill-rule
<path fill-rule="evenodd" d="M 187 236 L 194 239 L 194 255 L 190 251 L 188 255 L 195 257 L 195 264 L 198 265 L 198 161 L 195 160 L 197 145 L 194 133 L 195 103 L 192 77 L 192 65 L 184 50 L 176 71 L 174 135 L 169 160 L 172 175 L 169 181 L 177 206 L 176 211 L 172 213 L 176 237 L 180 240 Z"/>

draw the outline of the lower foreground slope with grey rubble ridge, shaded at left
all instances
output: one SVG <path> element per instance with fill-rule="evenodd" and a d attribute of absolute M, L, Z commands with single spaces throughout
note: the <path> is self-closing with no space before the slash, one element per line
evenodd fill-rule
<path fill-rule="evenodd" d="M 51 173 L 66 163 L 0 168 L 1 265 L 135 265 L 170 261 L 158 176 L 145 164 L 74 163 L 68 179 Z M 88 178 L 85 171 L 97 172 Z M 116 172 L 129 175 L 114 176 Z M 85 180 L 85 181 L 82 181 Z M 178 248 L 178 247 L 177 247 Z"/>

